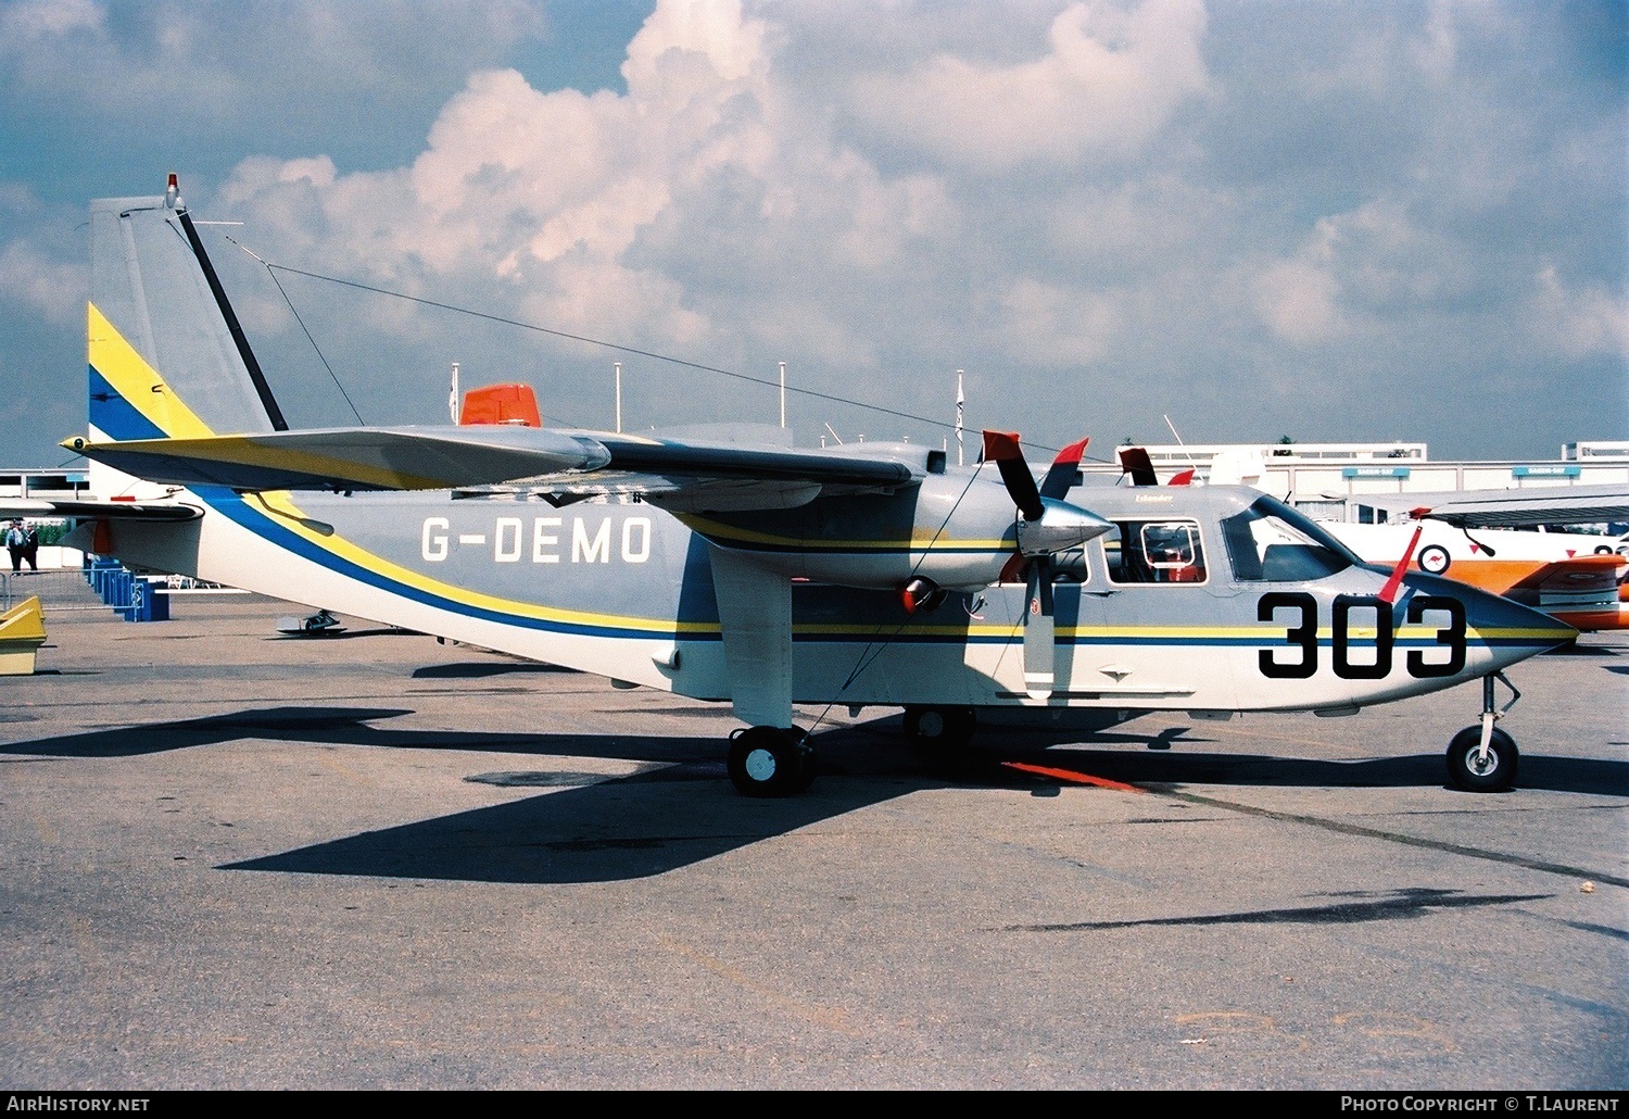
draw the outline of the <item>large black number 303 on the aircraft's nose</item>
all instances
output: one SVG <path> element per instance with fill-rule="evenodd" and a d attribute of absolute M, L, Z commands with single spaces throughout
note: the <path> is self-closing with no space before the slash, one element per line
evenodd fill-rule
<path fill-rule="evenodd" d="M 1352 611 L 1375 611 L 1373 660 L 1352 660 Z M 1289 621 L 1279 611 L 1297 611 Z M 1416 595 L 1404 614 L 1411 625 L 1425 622 L 1427 612 L 1447 616 L 1437 629 L 1437 647 L 1445 660 L 1425 660 L 1427 650 L 1409 650 L 1409 676 L 1430 679 L 1453 676 L 1464 668 L 1464 603 L 1447 595 Z M 1264 648 L 1259 655 L 1261 674 L 1272 679 L 1306 679 L 1318 673 L 1318 599 L 1305 591 L 1271 591 L 1256 603 L 1256 621 L 1284 624 L 1289 648 Z M 1329 652 L 1334 674 L 1341 679 L 1383 679 L 1391 674 L 1393 660 L 1391 603 L 1373 595 L 1341 595 L 1331 606 Z M 1279 660 L 1295 653 L 1293 660 Z"/>

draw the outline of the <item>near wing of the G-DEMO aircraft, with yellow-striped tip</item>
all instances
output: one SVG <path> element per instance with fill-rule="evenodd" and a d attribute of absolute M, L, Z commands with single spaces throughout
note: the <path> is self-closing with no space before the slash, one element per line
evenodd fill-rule
<path fill-rule="evenodd" d="M 523 489 L 557 502 L 642 494 L 674 508 L 787 508 L 821 490 L 891 492 L 920 467 L 878 448 L 792 451 L 526 427 L 370 427 L 65 448 L 171 485 L 235 490 Z"/>

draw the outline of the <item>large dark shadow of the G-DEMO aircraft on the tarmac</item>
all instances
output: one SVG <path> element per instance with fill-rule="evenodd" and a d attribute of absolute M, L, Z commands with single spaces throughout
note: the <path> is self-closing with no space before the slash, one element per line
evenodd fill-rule
<path fill-rule="evenodd" d="M 616 881 L 661 875 L 821 819 L 920 788 L 1028 788 L 1057 795 L 1059 783 L 1013 770 L 1028 762 L 1142 785 L 1249 785 L 1315 788 L 1440 787 L 1440 754 L 1355 762 L 1236 753 L 1175 753 L 1205 739 L 1192 728 L 1135 735 L 1124 728 L 1082 733 L 992 728 L 981 748 L 953 767 L 924 759 L 898 733 L 898 717 L 819 733 L 821 780 L 801 796 L 741 796 L 725 775 L 715 736 L 487 735 L 373 726 L 407 709 L 275 707 L 174 723 L 85 731 L 0 746 L 0 754 L 132 757 L 241 738 L 332 746 L 515 754 L 503 772 L 472 775 L 505 787 L 552 788 L 546 795 L 451 816 L 362 832 L 226 870 L 270 870 L 391 878 L 510 883 Z M 1101 749 L 1101 746 L 1117 746 Z M 624 777 L 520 764 L 533 757 L 601 757 L 642 764 Z M 1629 762 L 1525 756 L 1518 788 L 1629 796 Z M 1469 795 L 1469 793 L 1466 793 Z"/>

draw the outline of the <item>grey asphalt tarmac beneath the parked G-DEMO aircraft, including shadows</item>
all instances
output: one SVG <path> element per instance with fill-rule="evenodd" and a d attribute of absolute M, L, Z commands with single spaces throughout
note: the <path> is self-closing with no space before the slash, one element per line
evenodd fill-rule
<path fill-rule="evenodd" d="M 1510 793 L 1468 686 L 948 774 L 834 709 L 749 800 L 723 709 L 287 612 L 0 678 L 0 1088 L 1629 1086 L 1619 635 L 1512 669 Z"/>

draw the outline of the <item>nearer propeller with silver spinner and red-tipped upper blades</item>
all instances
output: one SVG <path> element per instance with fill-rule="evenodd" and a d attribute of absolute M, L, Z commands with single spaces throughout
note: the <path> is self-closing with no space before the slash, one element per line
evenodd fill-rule
<path fill-rule="evenodd" d="M 1057 679 L 1057 627 L 1052 614 L 1052 555 L 1080 547 L 1114 528 L 1095 513 L 1070 505 L 1064 494 L 1075 482 L 1087 440 L 1059 451 L 1041 485 L 1025 463 L 1018 435 L 984 433 L 984 459 L 994 461 L 1002 482 L 1018 507 L 1018 554 L 1008 572 L 1016 577 L 1020 565 L 1028 591 L 1023 616 L 1023 679 L 1031 699 L 1052 694 Z"/>

